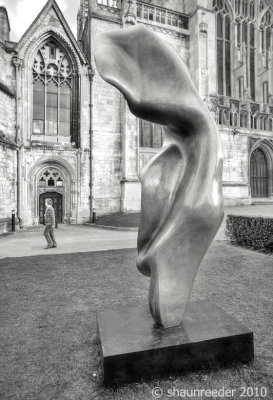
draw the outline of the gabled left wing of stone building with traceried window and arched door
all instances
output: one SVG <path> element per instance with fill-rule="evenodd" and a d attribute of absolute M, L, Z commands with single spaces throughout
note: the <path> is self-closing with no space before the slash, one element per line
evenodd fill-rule
<path fill-rule="evenodd" d="M 88 61 L 49 0 L 18 43 L 0 7 L 0 230 L 43 221 L 45 198 L 61 222 L 89 211 Z"/>

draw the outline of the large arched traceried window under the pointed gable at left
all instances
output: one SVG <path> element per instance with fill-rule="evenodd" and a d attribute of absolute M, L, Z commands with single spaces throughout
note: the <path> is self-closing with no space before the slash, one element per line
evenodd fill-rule
<path fill-rule="evenodd" d="M 33 63 L 33 134 L 70 142 L 73 69 L 65 52 L 45 43 Z M 50 138 L 48 138 L 50 137 Z"/>

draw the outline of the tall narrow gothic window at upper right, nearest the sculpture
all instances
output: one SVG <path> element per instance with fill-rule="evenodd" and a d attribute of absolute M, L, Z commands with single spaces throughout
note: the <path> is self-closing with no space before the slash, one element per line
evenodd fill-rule
<path fill-rule="evenodd" d="M 224 0 L 215 0 L 218 94 L 231 96 L 231 18 Z"/>

